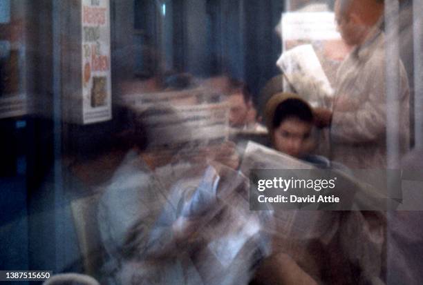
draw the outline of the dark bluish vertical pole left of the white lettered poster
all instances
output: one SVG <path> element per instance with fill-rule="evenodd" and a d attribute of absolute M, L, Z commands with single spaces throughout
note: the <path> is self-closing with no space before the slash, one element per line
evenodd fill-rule
<path fill-rule="evenodd" d="M 64 187 L 62 179 L 62 70 L 61 70 L 61 10 L 62 1 L 53 5 L 53 151 L 54 151 L 54 215 L 55 215 L 55 271 L 64 269 Z"/>

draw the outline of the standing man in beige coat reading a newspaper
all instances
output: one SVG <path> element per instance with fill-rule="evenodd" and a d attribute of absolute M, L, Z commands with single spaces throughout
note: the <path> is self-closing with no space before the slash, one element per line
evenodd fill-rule
<path fill-rule="evenodd" d="M 337 72 L 332 110 L 316 108 L 318 126 L 330 126 L 331 159 L 350 168 L 386 168 L 386 55 L 381 30 L 383 1 L 337 0 L 335 19 L 345 43 L 352 47 Z M 408 80 L 399 64 L 400 152 L 408 147 Z M 340 224 L 339 257 L 356 271 L 356 282 L 386 281 L 386 215 L 361 211 Z M 360 233 L 360 235 L 357 235 Z M 357 258 L 357 257 L 366 258 Z"/>

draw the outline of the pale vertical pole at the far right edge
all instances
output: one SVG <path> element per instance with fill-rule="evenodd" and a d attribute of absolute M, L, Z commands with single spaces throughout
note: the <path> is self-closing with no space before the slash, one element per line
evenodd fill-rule
<path fill-rule="evenodd" d="M 415 147 L 423 148 L 423 0 L 413 0 Z"/>

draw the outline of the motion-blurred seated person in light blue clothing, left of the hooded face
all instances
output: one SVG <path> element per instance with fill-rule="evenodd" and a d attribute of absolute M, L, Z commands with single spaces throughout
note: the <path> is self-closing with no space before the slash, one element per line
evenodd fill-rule
<path fill-rule="evenodd" d="M 247 284 L 269 242 L 261 234 L 261 214 L 249 211 L 245 177 L 216 162 L 236 168 L 234 148 L 191 148 L 182 157 L 194 161 L 184 160 L 169 150 L 175 127 L 159 132 L 160 121 L 148 119 L 159 111 L 178 119 L 171 108 L 127 116 L 131 148 L 98 209 L 108 259 L 103 283 Z"/>

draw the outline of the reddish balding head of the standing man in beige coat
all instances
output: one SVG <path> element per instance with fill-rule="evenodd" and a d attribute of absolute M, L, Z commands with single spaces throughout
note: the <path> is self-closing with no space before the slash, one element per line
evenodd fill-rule
<path fill-rule="evenodd" d="M 383 10 L 382 0 L 337 0 L 335 21 L 346 44 L 357 46 L 363 43 Z"/>

